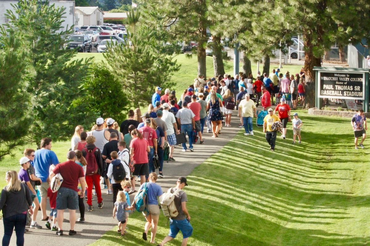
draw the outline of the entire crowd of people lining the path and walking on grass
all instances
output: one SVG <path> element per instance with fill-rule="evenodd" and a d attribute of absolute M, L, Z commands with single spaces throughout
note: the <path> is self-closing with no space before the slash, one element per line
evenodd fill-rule
<path fill-rule="evenodd" d="M 237 110 L 240 117 L 239 127 L 245 129 L 245 135 L 253 134 L 253 117 L 257 117 L 256 108 L 262 105 L 268 114 L 263 118 L 263 132 L 271 151 L 275 151 L 277 132 L 286 139 L 287 123 L 292 121 L 293 144 L 302 142 L 302 120 L 298 114 L 291 118 L 293 108 L 299 100 L 304 103 L 304 71 L 290 76 L 289 72 L 279 74 L 273 70 L 270 75 L 252 73 L 237 74 L 235 77 L 225 74 L 218 78 L 205 81 L 203 75 L 194 80 L 194 84 L 179 96 L 169 89 L 161 95 L 162 88 L 156 87 L 152 103 L 148 111 L 141 113 L 139 108 L 130 109 L 127 119 L 119 125 L 112 118 L 96 119 L 90 131 L 82 125 L 75 127 L 71 139 L 71 149 L 67 153 L 67 161 L 59 162 L 52 148 L 52 139 L 41 139 L 40 149 L 27 148 L 20 159 L 20 171 L 6 173 L 7 186 L 1 191 L 0 208 L 3 210 L 4 237 L 3 245 L 9 245 L 10 237 L 15 228 L 17 245 L 23 245 L 24 233 L 29 228 L 40 229 L 45 226 L 64 235 L 63 213 L 69 211 L 69 235 L 74 230 L 75 222 L 85 222 L 85 202 L 87 210 L 93 211 L 93 196 L 97 199 L 97 208 L 102 209 L 102 188 L 112 195 L 113 218 L 118 220 L 118 233 L 124 236 L 129 214 L 135 209 L 135 201 L 130 196 L 148 190 L 148 206 L 143 212 L 146 219 L 142 238 L 147 239 L 151 230 L 150 242 L 155 243 L 159 215 L 161 213 L 158 198 L 164 193 L 156 181 L 165 178 L 164 160 L 174 162 L 174 148 L 178 145 L 178 135 L 188 135 L 189 147 L 181 142 L 182 151 L 195 151 L 194 144 L 205 144 L 204 134 L 212 133 L 212 138 L 222 134 L 223 127 L 231 126 L 231 115 Z M 239 80 L 240 78 L 240 80 Z M 254 80 L 254 81 L 253 81 Z M 297 84 L 299 81 L 299 84 Z M 275 97 L 275 108 L 272 108 Z M 277 112 L 277 115 L 276 115 Z M 367 130 L 363 111 L 356 114 L 351 124 L 357 139 L 363 141 Z M 365 124 L 365 127 L 363 126 Z M 204 131 L 205 127 L 206 132 Z M 119 170 L 121 178 L 117 178 Z M 158 174 L 156 172 L 158 169 Z M 63 178 L 62 178 L 63 177 Z M 137 189 L 136 182 L 140 183 Z M 182 189 L 187 185 L 185 177 L 178 178 L 176 187 L 170 191 L 175 194 L 175 205 L 178 215 L 170 218 L 169 234 L 158 245 L 174 239 L 181 230 L 182 245 L 186 245 L 192 235 L 190 215 L 186 209 L 187 196 Z M 94 192 L 93 192 L 94 190 Z M 40 196 L 40 201 L 38 196 Z M 47 198 L 50 203 L 50 214 L 47 214 Z M 37 222 L 38 210 L 41 218 Z M 80 217 L 76 218 L 76 210 Z"/>

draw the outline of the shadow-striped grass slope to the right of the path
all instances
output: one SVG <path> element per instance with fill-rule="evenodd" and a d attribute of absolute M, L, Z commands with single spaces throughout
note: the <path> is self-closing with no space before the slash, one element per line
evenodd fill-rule
<path fill-rule="evenodd" d="M 270 152 L 261 128 L 253 137 L 241 130 L 188 176 L 189 245 L 370 243 L 370 148 L 354 149 L 348 118 L 299 114 L 302 144 L 292 145 L 289 128 Z M 134 213 L 128 228 L 124 239 L 115 228 L 92 245 L 149 245 L 142 215 Z M 161 215 L 157 242 L 167 233 Z"/>

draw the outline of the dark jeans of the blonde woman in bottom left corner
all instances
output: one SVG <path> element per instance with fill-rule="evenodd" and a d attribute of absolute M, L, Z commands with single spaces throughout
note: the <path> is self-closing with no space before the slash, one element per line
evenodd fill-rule
<path fill-rule="evenodd" d="M 14 227 L 16 228 L 17 246 L 24 245 L 24 229 L 26 228 L 27 214 L 19 213 L 7 218 L 3 218 L 4 236 L 3 246 L 8 246 Z"/>

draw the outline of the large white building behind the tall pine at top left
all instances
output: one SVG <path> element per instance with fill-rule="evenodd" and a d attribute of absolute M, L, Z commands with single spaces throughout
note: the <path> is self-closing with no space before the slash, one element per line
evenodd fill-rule
<path fill-rule="evenodd" d="M 18 1 L 16 0 L 0 0 L 0 25 L 9 22 L 9 19 L 5 16 L 6 10 L 12 10 L 14 13 L 14 8 L 11 4 L 16 5 Z M 64 22 L 62 23 L 63 29 L 65 30 L 68 26 L 70 28 L 74 25 L 74 1 L 70 0 L 49 0 L 49 5 L 54 4 L 55 7 L 64 7 L 65 15 Z"/>

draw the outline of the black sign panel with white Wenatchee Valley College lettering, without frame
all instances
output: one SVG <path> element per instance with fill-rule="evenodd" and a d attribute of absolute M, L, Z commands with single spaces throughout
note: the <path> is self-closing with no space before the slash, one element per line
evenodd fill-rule
<path fill-rule="evenodd" d="M 319 97 L 364 99 L 363 73 L 319 72 Z"/>

